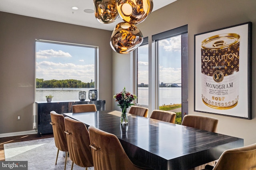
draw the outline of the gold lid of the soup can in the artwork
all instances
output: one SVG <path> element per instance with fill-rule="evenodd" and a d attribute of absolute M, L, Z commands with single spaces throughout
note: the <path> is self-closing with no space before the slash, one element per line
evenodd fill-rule
<path fill-rule="evenodd" d="M 239 42 L 239 39 L 240 39 L 240 35 L 236 33 L 214 35 L 202 41 L 202 49 L 205 49 L 205 50 L 226 49 L 232 45 L 237 44 Z"/>

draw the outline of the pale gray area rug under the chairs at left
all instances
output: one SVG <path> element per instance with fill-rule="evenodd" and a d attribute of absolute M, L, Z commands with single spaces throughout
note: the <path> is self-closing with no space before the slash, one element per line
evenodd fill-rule
<path fill-rule="evenodd" d="M 64 170 L 65 158 L 63 152 L 59 152 L 55 165 L 57 148 L 54 138 L 38 139 L 32 141 L 4 144 L 6 161 L 28 161 L 28 170 Z M 72 161 L 68 157 L 66 170 L 71 169 Z M 74 170 L 84 170 L 74 164 Z M 93 167 L 88 168 L 94 170 Z"/>

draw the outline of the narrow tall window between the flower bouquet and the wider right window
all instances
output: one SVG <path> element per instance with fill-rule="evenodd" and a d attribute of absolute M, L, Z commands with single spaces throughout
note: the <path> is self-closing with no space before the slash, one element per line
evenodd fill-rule
<path fill-rule="evenodd" d="M 148 105 L 148 39 L 143 39 L 142 45 L 137 48 L 137 104 Z"/>

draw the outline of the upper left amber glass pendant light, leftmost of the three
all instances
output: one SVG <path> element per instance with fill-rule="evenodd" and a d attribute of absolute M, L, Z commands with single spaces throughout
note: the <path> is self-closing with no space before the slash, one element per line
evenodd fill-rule
<path fill-rule="evenodd" d="M 119 18 L 116 0 L 93 0 L 95 17 L 100 23 L 112 23 Z"/>

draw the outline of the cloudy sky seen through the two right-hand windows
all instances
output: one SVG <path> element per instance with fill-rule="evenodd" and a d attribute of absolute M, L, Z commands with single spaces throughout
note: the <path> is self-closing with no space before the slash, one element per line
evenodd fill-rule
<path fill-rule="evenodd" d="M 148 45 L 138 49 L 138 84 L 148 84 Z M 159 41 L 159 83 L 181 83 L 181 36 Z"/>

